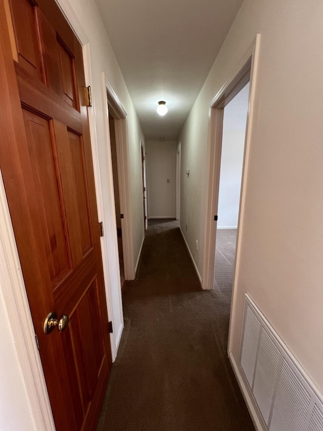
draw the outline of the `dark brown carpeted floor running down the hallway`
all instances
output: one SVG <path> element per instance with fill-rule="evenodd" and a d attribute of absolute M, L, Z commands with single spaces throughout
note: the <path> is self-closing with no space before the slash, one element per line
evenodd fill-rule
<path fill-rule="evenodd" d="M 177 222 L 149 222 L 97 431 L 254 430 L 227 357 L 227 291 L 202 291 Z"/>

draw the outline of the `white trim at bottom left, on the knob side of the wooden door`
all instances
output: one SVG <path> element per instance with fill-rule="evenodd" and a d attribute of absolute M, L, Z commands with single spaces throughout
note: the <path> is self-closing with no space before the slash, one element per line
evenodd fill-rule
<path fill-rule="evenodd" d="M 55 431 L 2 175 L 0 175 L 0 286 L 35 427 Z"/>

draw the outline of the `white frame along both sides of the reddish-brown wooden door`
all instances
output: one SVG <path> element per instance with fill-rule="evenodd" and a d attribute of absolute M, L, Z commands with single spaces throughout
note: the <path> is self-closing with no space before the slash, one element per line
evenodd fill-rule
<path fill-rule="evenodd" d="M 83 61 L 86 85 L 92 86 L 90 43 L 69 0 L 56 0 L 67 21 L 73 28 L 83 47 Z M 105 91 L 104 91 L 105 93 Z M 98 141 L 93 108 L 88 108 L 92 158 L 95 179 L 95 191 L 99 220 L 103 220 L 103 201 L 101 176 L 99 169 Z M 122 131 L 123 132 L 123 131 Z M 128 134 L 126 133 L 126 136 Z M 102 263 L 107 297 L 107 309 L 113 318 L 111 286 L 109 280 L 109 259 L 101 238 Z M 133 250 L 133 249 L 132 249 Z M 0 289 L 4 299 L 4 306 L 12 331 L 12 338 L 16 346 L 20 363 L 21 375 L 25 384 L 26 394 L 30 403 L 31 414 L 35 429 L 55 431 L 50 402 L 48 398 L 45 378 L 35 340 L 32 317 L 26 294 L 22 269 L 20 266 L 16 239 L 8 207 L 7 196 L 0 175 Z M 121 298 L 120 306 L 122 307 Z M 122 315 L 122 313 L 121 313 Z M 122 329 L 122 328 L 121 328 Z M 122 330 L 118 334 L 121 337 Z M 117 344 L 114 333 L 110 334 L 113 359 L 116 357 Z M 120 341 L 120 340 L 119 340 Z"/>

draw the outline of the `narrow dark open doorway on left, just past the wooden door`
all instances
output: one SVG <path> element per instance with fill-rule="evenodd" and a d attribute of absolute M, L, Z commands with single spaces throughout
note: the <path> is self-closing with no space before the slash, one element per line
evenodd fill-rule
<path fill-rule="evenodd" d="M 121 288 L 125 281 L 125 267 L 123 255 L 123 241 L 122 241 L 122 225 L 121 225 L 121 209 L 120 209 L 120 188 L 119 188 L 119 171 L 118 171 L 118 156 L 117 156 L 117 140 L 116 140 L 116 119 L 109 111 L 109 130 L 110 130 L 110 144 L 111 144 L 111 159 L 112 159 L 112 172 L 113 172 L 113 188 L 115 194 L 115 208 L 116 208 L 116 222 L 117 222 L 117 237 L 118 237 L 118 252 L 120 262 L 120 282 Z"/>

